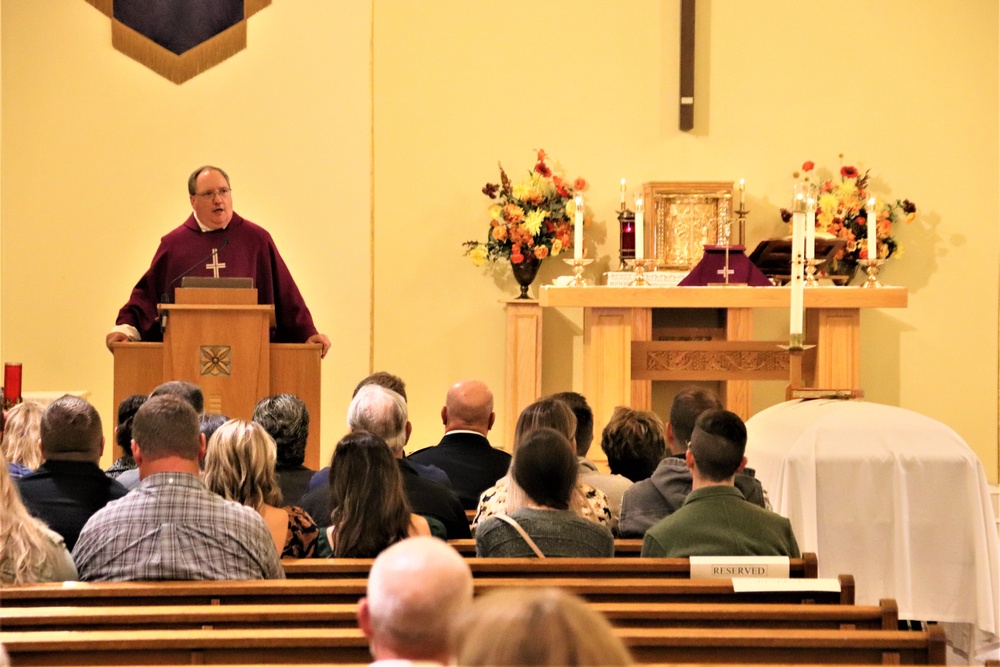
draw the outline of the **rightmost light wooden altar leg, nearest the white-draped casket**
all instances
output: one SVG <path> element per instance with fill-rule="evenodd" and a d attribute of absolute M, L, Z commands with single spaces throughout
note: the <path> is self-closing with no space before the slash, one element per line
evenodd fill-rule
<path fill-rule="evenodd" d="M 815 386 L 860 389 L 861 311 L 857 308 L 824 308 L 818 311 L 815 321 Z"/>

